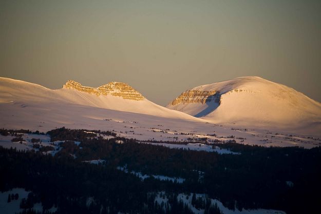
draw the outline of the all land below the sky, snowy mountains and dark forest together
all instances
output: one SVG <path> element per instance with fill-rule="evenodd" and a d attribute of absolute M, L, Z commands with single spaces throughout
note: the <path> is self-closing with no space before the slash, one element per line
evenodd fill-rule
<path fill-rule="evenodd" d="M 259 77 L 167 108 L 122 82 L 0 78 L 0 213 L 319 213 L 320 122 Z"/>

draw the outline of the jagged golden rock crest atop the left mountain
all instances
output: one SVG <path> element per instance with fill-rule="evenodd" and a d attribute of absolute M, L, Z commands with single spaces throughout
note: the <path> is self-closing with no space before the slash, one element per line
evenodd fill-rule
<path fill-rule="evenodd" d="M 130 99 L 130 100 L 145 99 L 133 87 L 123 82 L 109 82 L 108 84 L 95 88 L 95 87 L 83 86 L 78 82 L 75 82 L 73 80 L 68 80 L 66 84 L 63 85 L 63 88 L 69 88 L 80 92 L 85 92 L 88 94 L 95 94 L 97 96 L 112 95 L 112 96 L 122 97 L 124 99 Z"/>

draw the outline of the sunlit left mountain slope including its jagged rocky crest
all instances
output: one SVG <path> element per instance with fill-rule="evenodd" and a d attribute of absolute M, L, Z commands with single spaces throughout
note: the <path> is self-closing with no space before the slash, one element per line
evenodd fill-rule
<path fill-rule="evenodd" d="M 82 86 L 68 81 L 63 88 L 51 90 L 41 85 L 0 78 L 0 103 L 50 104 L 66 103 L 95 106 L 98 108 L 201 121 L 182 112 L 169 110 L 157 105 L 134 90 L 126 83 L 110 82 L 98 88 Z"/>

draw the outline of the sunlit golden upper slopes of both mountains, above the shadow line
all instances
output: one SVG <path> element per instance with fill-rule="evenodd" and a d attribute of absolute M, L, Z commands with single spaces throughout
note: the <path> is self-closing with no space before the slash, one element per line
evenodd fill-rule
<path fill-rule="evenodd" d="M 170 104 L 167 108 L 142 99 L 134 88 L 120 82 L 94 88 L 70 80 L 62 88 L 51 90 L 25 81 L 0 78 L 0 92 L 2 103 L 63 102 L 242 127 L 321 127 L 321 103 L 293 88 L 260 77 L 200 85 L 182 93 L 184 103 Z M 189 97 L 191 95 L 195 97 Z"/>

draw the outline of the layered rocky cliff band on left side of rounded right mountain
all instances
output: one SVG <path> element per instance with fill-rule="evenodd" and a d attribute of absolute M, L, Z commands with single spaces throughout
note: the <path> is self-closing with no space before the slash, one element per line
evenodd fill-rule
<path fill-rule="evenodd" d="M 218 91 L 199 91 L 187 90 L 180 96 L 175 98 L 170 104 L 176 105 L 179 103 L 205 103 L 215 101 L 220 103 L 220 93 Z"/>

